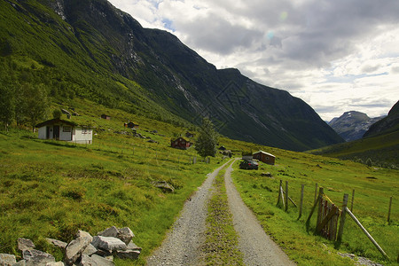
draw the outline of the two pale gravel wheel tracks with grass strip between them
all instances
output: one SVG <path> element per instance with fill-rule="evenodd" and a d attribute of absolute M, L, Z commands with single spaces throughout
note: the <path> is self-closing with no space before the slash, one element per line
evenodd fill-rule
<path fill-rule="evenodd" d="M 219 171 L 232 161 L 234 160 L 226 162 L 207 175 L 207 180 L 200 186 L 198 192 L 184 204 L 181 215 L 174 223 L 173 229 L 168 232 L 162 245 L 148 257 L 147 265 L 203 264 L 200 246 L 205 241 L 207 200 L 212 195 L 210 188 Z M 266 235 L 254 214 L 239 197 L 239 192 L 231 181 L 231 165 L 227 168 L 224 178 L 234 228 L 239 234 L 239 249 L 244 254 L 245 264 L 294 265 Z"/>

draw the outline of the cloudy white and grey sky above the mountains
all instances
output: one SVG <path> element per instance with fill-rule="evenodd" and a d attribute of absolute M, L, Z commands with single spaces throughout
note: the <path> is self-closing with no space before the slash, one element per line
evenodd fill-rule
<path fill-rule="evenodd" d="M 399 100 L 398 0 L 109 0 L 217 68 L 288 90 L 326 121 Z"/>

